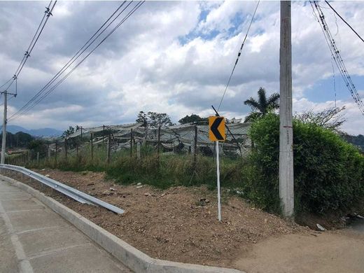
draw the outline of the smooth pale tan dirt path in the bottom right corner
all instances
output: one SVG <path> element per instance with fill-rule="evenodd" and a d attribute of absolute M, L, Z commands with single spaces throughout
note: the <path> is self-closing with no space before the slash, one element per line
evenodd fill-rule
<path fill-rule="evenodd" d="M 248 273 L 363 273 L 364 233 L 350 230 L 282 235 L 254 246 L 235 267 Z"/>

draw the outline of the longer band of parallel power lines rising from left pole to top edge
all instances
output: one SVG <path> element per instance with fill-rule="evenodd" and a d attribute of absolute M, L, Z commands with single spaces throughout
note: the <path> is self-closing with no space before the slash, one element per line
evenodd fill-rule
<path fill-rule="evenodd" d="M 77 67 L 82 64 L 85 59 L 87 59 L 87 57 L 89 57 L 92 52 L 94 52 L 94 50 L 96 50 L 99 45 L 101 45 L 102 43 L 104 43 L 104 41 L 106 40 L 106 38 L 109 38 L 109 36 L 111 34 L 113 34 L 114 31 L 116 31 L 116 29 L 118 29 L 118 27 L 120 27 L 120 25 L 122 25 L 128 18 L 130 18 L 130 16 L 144 3 L 145 1 L 139 1 L 139 3 L 137 3 L 134 8 L 132 8 L 132 10 L 130 10 L 129 13 L 127 13 L 127 15 L 125 15 L 125 17 L 118 23 L 118 25 L 116 25 L 116 27 L 114 27 L 109 34 L 107 34 L 102 41 L 100 41 L 85 57 L 83 57 L 83 59 L 80 60 L 80 62 L 78 62 L 78 64 L 76 64 L 76 66 L 73 67 L 73 69 L 71 69 L 71 71 L 69 71 L 69 73 L 67 73 L 61 80 L 59 80 L 53 87 L 50 88 L 50 90 L 48 90 L 47 92 L 45 92 L 45 94 L 42 94 L 41 97 L 38 96 L 38 99 L 35 100 L 34 97 L 31 99 L 32 102 L 31 104 L 28 104 L 28 106 L 26 108 L 23 108 L 22 111 L 18 111 L 15 114 L 13 114 L 13 116 L 10 117 L 10 120 L 14 120 L 15 118 L 19 118 L 20 116 L 22 116 L 25 112 L 30 111 L 32 108 L 34 108 L 34 106 L 36 106 L 39 102 L 41 102 L 45 97 L 48 96 L 48 94 L 50 94 L 52 91 L 55 90 L 55 88 L 57 88 L 58 85 L 60 85 L 75 69 L 77 69 Z M 132 2 L 130 2 L 132 3 Z M 130 6 L 130 3 L 127 5 Z M 125 8 L 127 8 L 125 7 Z M 125 10 L 125 9 L 123 9 Z M 92 42 L 93 43 L 93 42 Z"/>

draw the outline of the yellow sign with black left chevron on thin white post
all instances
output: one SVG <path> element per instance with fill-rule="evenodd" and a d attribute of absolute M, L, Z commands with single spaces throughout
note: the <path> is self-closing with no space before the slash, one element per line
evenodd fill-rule
<path fill-rule="evenodd" d="M 218 221 L 221 221 L 221 192 L 220 192 L 220 151 L 218 141 L 225 141 L 225 118 L 209 117 L 209 139 L 216 142 L 216 174 L 218 183 Z"/>

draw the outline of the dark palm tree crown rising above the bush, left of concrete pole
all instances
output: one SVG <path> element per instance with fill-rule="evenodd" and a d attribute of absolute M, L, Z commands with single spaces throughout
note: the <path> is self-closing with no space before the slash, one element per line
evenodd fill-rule
<path fill-rule="evenodd" d="M 251 109 L 253 110 L 253 112 L 249 113 L 244 120 L 244 122 L 247 123 L 260 118 L 261 116 L 265 116 L 269 111 L 279 109 L 279 94 L 273 93 L 267 99 L 265 89 L 260 87 L 258 90 L 258 102 L 251 97 L 250 99 L 246 99 L 244 104 L 251 106 Z"/>

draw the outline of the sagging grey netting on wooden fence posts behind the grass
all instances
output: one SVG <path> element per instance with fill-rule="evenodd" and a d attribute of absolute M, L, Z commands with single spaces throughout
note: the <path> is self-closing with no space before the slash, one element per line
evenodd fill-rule
<path fill-rule="evenodd" d="M 220 155 L 244 156 L 251 148 L 248 138 L 249 123 L 228 125 L 225 141 L 221 142 Z M 173 125 L 149 127 L 141 123 L 78 127 L 78 130 L 62 141 L 50 144 L 48 156 L 80 155 L 85 149 L 104 147 L 108 159 L 111 154 L 130 150 L 140 157 L 141 146 L 151 146 L 156 153 L 185 153 L 213 156 L 214 142 L 209 140 L 208 125 Z M 135 148 L 136 147 L 136 148 Z"/>

